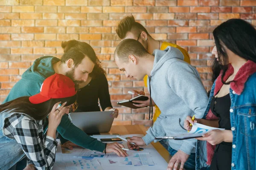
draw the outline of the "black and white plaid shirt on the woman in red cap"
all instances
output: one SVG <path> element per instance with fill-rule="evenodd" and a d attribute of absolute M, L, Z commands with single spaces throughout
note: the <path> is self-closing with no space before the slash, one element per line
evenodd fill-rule
<path fill-rule="evenodd" d="M 15 139 L 28 157 L 28 164 L 38 170 L 51 170 L 55 162 L 57 142 L 50 136 L 44 138 L 44 120 L 35 120 L 16 113 L 5 119 L 3 133 Z"/>

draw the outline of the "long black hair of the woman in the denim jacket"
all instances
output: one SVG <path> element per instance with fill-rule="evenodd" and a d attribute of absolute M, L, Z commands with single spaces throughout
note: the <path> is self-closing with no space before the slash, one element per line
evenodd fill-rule
<path fill-rule="evenodd" d="M 219 62 L 215 61 L 212 64 L 212 79 L 215 80 L 216 75 L 223 70 L 221 81 L 227 85 L 232 81 L 224 82 L 223 80 L 229 63 L 224 45 L 239 57 L 256 62 L 256 29 L 245 20 L 230 19 L 214 29 L 213 37 Z"/>

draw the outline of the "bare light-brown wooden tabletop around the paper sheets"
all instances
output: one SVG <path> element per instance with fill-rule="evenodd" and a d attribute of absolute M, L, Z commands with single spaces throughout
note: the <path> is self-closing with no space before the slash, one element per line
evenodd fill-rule
<path fill-rule="evenodd" d="M 143 125 L 116 125 L 116 126 L 112 126 L 111 130 L 108 133 L 101 133 L 101 134 L 105 135 L 105 134 L 118 133 L 120 135 L 128 135 L 128 134 L 145 135 L 148 128 L 149 127 L 145 127 Z M 169 152 L 159 142 L 157 143 L 151 142 L 151 144 L 154 146 L 157 152 L 160 153 L 163 159 L 165 159 L 166 162 L 169 163 L 169 160 L 171 159 Z"/>

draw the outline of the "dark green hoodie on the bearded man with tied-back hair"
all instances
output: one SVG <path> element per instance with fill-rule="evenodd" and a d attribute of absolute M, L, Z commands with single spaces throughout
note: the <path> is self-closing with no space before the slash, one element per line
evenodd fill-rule
<path fill-rule="evenodd" d="M 22 74 L 21 79 L 13 86 L 3 103 L 19 97 L 33 96 L 40 93 L 40 88 L 44 80 L 55 74 L 52 66 L 58 61 L 60 59 L 52 56 L 44 56 L 36 59 L 33 65 Z M 88 136 L 83 130 L 73 125 L 66 114 L 62 117 L 57 131 L 62 137 L 81 147 L 100 152 L 103 152 L 105 149 L 105 143 Z M 61 143 L 63 142 L 64 139 L 61 139 Z"/>

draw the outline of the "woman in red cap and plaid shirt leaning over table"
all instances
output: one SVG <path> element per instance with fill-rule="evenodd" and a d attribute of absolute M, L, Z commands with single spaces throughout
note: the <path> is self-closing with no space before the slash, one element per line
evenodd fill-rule
<path fill-rule="evenodd" d="M 39 94 L 0 105 L 0 169 L 20 169 L 23 166 L 17 163 L 24 157 L 38 170 L 52 169 L 56 129 L 75 101 L 73 81 L 54 74 L 45 79 Z M 44 132 L 47 116 L 48 130 Z"/>

